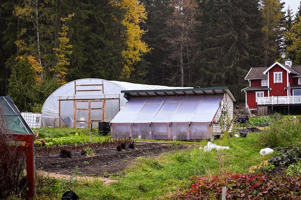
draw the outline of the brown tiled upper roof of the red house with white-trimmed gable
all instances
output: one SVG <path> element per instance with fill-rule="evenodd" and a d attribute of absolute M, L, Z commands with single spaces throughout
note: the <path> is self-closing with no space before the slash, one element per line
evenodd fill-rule
<path fill-rule="evenodd" d="M 291 66 L 290 67 L 290 66 L 281 64 L 279 62 L 275 62 L 270 67 L 255 67 L 255 68 L 251 68 L 250 71 L 248 72 L 247 76 L 245 77 L 245 80 L 268 78 L 267 72 L 272 67 L 274 67 L 276 64 L 278 64 L 280 67 L 284 68 L 284 70 L 286 70 L 288 73 L 292 73 L 293 77 L 301 77 L 301 65 L 296 65 L 296 66 Z"/>

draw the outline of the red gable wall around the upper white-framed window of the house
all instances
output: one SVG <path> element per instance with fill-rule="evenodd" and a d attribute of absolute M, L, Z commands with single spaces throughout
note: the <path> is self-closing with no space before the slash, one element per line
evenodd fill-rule
<path fill-rule="evenodd" d="M 274 83 L 274 73 L 282 71 L 282 83 Z M 268 71 L 269 76 L 269 86 L 271 88 L 270 96 L 287 96 L 287 90 L 284 87 L 287 87 L 287 71 L 280 67 L 279 65 L 275 65 L 272 69 Z M 289 74 L 290 76 L 290 74 Z"/>

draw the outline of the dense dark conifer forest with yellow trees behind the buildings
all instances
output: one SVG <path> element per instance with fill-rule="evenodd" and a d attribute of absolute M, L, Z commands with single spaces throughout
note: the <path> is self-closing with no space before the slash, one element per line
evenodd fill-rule
<path fill-rule="evenodd" d="M 101 78 L 241 89 L 281 53 L 301 64 L 301 6 L 280 0 L 7 0 L 0 2 L 0 95 L 21 111 L 59 86 Z"/>

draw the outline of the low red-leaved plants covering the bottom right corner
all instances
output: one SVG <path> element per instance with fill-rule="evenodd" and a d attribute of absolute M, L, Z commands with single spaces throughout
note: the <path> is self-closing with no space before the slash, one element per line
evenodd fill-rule
<path fill-rule="evenodd" d="M 275 176 L 228 174 L 226 178 L 220 175 L 211 179 L 207 177 L 192 177 L 194 183 L 183 193 L 178 190 L 176 199 L 209 200 L 221 199 L 222 187 L 227 188 L 227 199 L 296 199 L 301 198 L 301 178 L 288 177 L 282 174 Z"/>

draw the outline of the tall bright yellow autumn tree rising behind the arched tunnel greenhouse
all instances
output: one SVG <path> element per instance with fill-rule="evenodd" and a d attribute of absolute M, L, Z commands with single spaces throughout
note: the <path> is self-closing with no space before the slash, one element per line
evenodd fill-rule
<path fill-rule="evenodd" d="M 121 24 L 126 26 L 121 35 L 123 37 L 123 45 L 125 49 L 121 52 L 125 60 L 122 78 L 130 78 L 132 71 L 135 70 L 134 65 L 141 60 L 141 56 L 151 50 L 148 45 L 141 40 L 142 35 L 146 31 L 141 30 L 139 23 L 145 22 L 147 12 L 143 3 L 137 0 L 121 0 L 116 3 L 116 6 L 125 11 Z"/>

